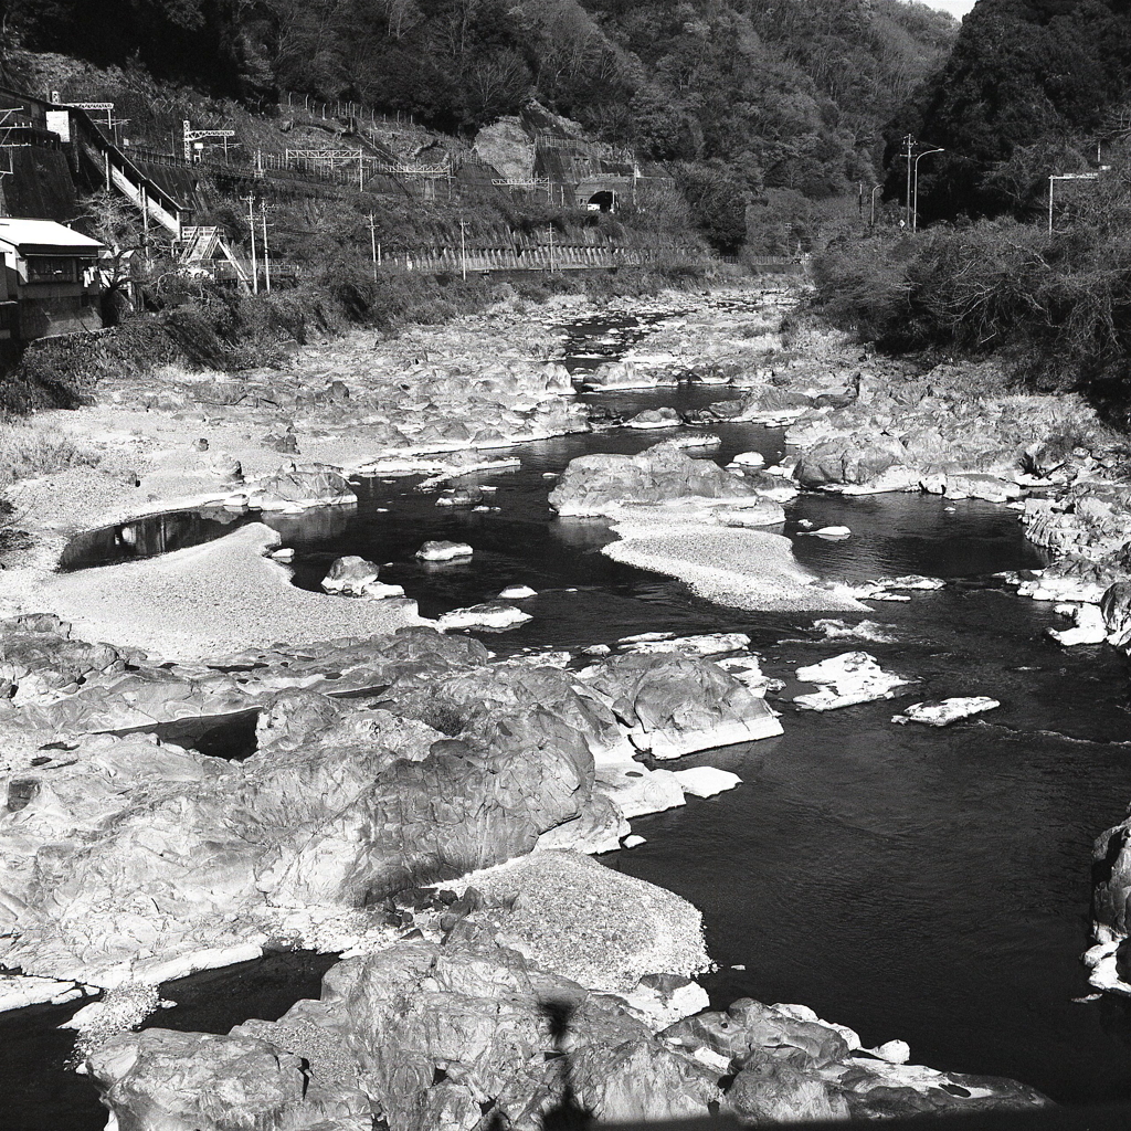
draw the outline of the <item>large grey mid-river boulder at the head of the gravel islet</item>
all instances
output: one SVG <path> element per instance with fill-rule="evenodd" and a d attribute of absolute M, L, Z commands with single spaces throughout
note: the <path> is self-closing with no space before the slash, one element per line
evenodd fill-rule
<path fill-rule="evenodd" d="M 753 494 L 754 489 L 741 475 L 709 459 L 692 459 L 679 443 L 665 442 L 636 456 L 579 456 L 570 460 L 550 493 L 550 506 L 563 516 L 608 515 L 625 503 Z"/>

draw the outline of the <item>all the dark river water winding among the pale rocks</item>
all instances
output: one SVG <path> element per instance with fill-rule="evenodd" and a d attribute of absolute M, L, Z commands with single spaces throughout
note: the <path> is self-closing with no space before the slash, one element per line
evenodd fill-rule
<path fill-rule="evenodd" d="M 674 396 L 623 403 L 639 411 Z M 706 403 L 722 391 L 677 396 Z M 783 450 L 778 431 L 714 431 L 723 446 L 713 458 L 720 460 L 757 449 L 771 463 Z M 869 616 L 887 627 L 890 644 L 824 640 L 812 618 L 708 605 L 677 582 L 604 558 L 607 524 L 551 516 L 545 495 L 553 483 L 544 472 L 582 452 L 639 450 L 664 434 L 618 431 L 525 446 L 520 472 L 475 477 L 498 486 L 487 501 L 499 513 L 437 508 L 435 494 L 412 481 L 362 481 L 356 508 L 279 523 L 297 551 L 295 584 L 316 588 L 335 558 L 359 553 L 382 564 L 382 578 L 404 585 L 428 615 L 507 585 L 538 590 L 523 603 L 533 621 L 484 637 L 499 653 L 575 649 L 645 630 L 736 629 L 783 679 L 857 648 L 915 677 L 892 701 L 826 714 L 795 710 L 792 682 L 776 703 L 784 736 L 683 761 L 732 769 L 742 787 L 634 821 L 648 843 L 604 861 L 703 910 L 722 966 L 707 978 L 717 1004 L 744 995 L 802 1002 L 857 1028 L 867 1044 L 908 1041 L 920 1063 L 1016 1077 L 1067 1103 L 1131 1097 L 1131 1007 L 1111 998 L 1072 1001 L 1089 992 L 1079 956 L 1088 943 L 1091 840 L 1131 800 L 1123 657 L 1102 646 L 1059 647 L 1045 633 L 1063 627 L 1050 606 L 1020 601 L 988 578 L 1044 559 L 1012 511 L 986 503 L 803 497 L 787 507 L 796 556 L 822 576 L 950 579 L 909 604 L 874 606 Z M 805 536 L 802 519 L 847 525 L 853 537 Z M 77 547 L 71 564 L 94 563 L 100 546 L 120 542 L 100 537 Z M 469 542 L 475 556 L 422 566 L 413 554 L 429 538 Z M 1002 707 L 941 731 L 890 723 L 901 705 L 958 694 L 991 694 Z M 309 970 L 271 962 L 236 970 L 233 981 L 187 979 L 193 1012 L 182 1007 L 155 1024 L 223 1031 L 247 1017 L 277 1016 L 313 992 Z M 737 964 L 745 969 L 729 968 Z M 274 987 L 266 998 L 256 983 L 260 966 Z M 44 1018 L 58 1024 L 64 1016 L 0 1017 L 9 1053 L 0 1064 L 25 1097 L 11 1126 L 102 1125 L 93 1089 L 43 1071 L 68 1044 Z M 67 1120 L 48 1117 L 62 1111 Z"/>

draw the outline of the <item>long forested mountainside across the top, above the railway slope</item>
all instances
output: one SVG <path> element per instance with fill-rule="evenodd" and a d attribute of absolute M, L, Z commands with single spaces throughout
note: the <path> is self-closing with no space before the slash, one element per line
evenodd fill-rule
<path fill-rule="evenodd" d="M 9 0 L 5 41 L 269 103 L 279 89 L 470 131 L 535 97 L 726 182 L 873 183 L 882 128 L 957 25 L 904 0 Z"/>

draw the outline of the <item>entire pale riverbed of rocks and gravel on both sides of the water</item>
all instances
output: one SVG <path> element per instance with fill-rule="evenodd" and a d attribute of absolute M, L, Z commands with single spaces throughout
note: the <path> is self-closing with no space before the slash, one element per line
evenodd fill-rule
<path fill-rule="evenodd" d="M 1131 506 L 1123 452 L 1088 409 L 975 396 L 984 373 L 912 371 L 791 330 L 796 302 L 772 287 L 639 311 L 653 331 L 585 380 L 727 387 L 666 416 L 576 399 L 554 360 L 561 326 L 595 312 L 558 300 L 313 347 L 290 371 L 166 373 L 146 392 L 111 383 L 98 405 L 44 422 L 107 446 L 118 470 L 14 492 L 26 542 L 6 563 L 0 623 L 0 960 L 14 972 L 0 988 L 9 1008 L 104 994 L 77 1026 L 121 1125 L 328 1131 L 379 1115 L 472 1131 L 537 1126 L 570 1105 L 608 1121 L 722 1108 L 757 1122 L 1044 1102 L 909 1065 L 899 1042 L 864 1050 L 804 1007 L 703 1012 L 698 912 L 579 855 L 631 844 L 630 820 L 737 783 L 657 762 L 780 733 L 749 638 L 500 659 L 373 588 L 373 563 L 357 595 L 291 585 L 270 556 L 278 536 L 254 523 L 149 561 L 50 569 L 71 532 L 174 503 L 349 508 L 348 475 L 366 468 L 432 475 L 423 490 L 439 502 L 490 509 L 467 475 L 497 449 L 621 423 L 748 421 L 788 424 L 786 458 L 723 468 L 702 458 L 709 432 L 693 433 L 692 452 L 681 431 L 634 456 L 575 460 L 546 483 L 549 502 L 612 519 L 621 538 L 605 552 L 619 561 L 722 605 L 795 613 L 865 611 L 917 580 L 853 587 L 801 568 L 778 533 L 798 487 L 1024 507 L 1059 558 L 1018 578 L 1022 592 L 1070 602 L 1085 622 L 1077 610 L 1102 602 L 1104 630 L 1122 639 Z M 361 567 L 334 580 L 349 568 Z M 829 706 L 874 698 L 861 673 L 874 682 L 879 670 L 847 662 L 857 655 L 822 690 Z M 238 718 L 253 732 L 236 757 L 164 729 Z M 1103 856 L 1122 877 L 1115 848 Z M 1116 962 L 1121 900 L 1100 915 Z M 162 983 L 294 948 L 345 956 L 320 1001 L 227 1035 L 130 1031 Z"/>

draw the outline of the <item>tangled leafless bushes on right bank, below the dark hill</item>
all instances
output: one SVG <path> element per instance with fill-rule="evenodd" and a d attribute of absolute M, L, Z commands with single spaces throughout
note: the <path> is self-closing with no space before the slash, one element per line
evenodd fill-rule
<path fill-rule="evenodd" d="M 1020 382 L 1131 412 L 1131 161 L 1047 221 L 841 240 L 814 264 L 818 309 L 899 351 L 994 355 Z"/>

